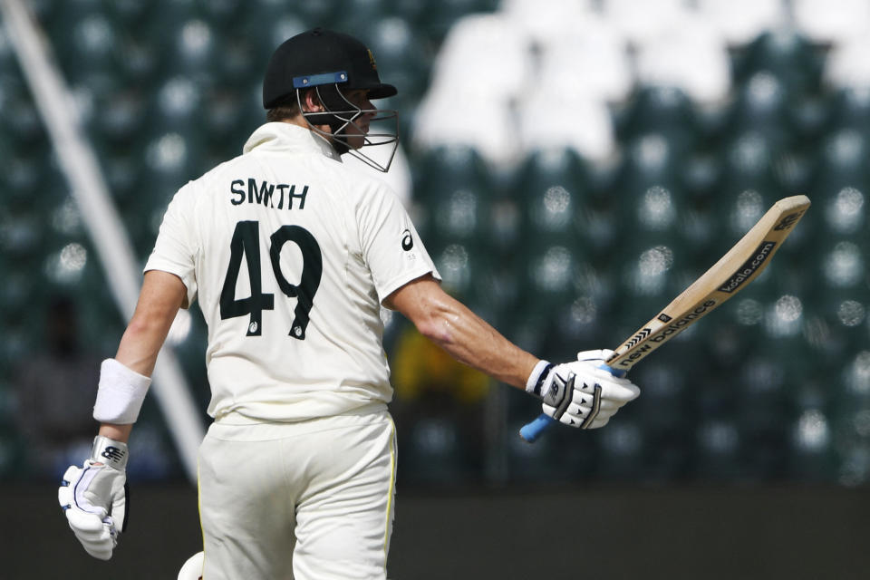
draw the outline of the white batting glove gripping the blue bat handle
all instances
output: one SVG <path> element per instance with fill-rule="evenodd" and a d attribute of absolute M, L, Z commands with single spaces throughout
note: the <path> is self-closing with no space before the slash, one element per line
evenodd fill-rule
<path fill-rule="evenodd" d="M 565 425 L 604 427 L 626 402 L 641 394 L 633 382 L 599 368 L 613 353 L 585 351 L 577 353 L 576 362 L 538 362 L 526 391 L 544 401 L 544 412 Z"/>

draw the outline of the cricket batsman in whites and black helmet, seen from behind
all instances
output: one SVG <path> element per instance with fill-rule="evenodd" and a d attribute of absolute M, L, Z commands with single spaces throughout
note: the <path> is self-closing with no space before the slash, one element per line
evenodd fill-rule
<path fill-rule="evenodd" d="M 608 352 L 541 360 L 441 289 L 393 192 L 342 163 L 389 169 L 366 150 L 395 151 L 398 131 L 375 127 L 397 113 L 372 101 L 396 92 L 352 36 L 295 35 L 266 66 L 267 122 L 172 198 L 135 313 L 102 362 L 91 457 L 59 489 L 92 556 L 111 558 L 123 533 L 127 441 L 169 326 L 195 300 L 214 419 L 198 454 L 206 580 L 386 577 L 396 440 L 382 305 L 565 425 L 603 427 L 639 394 L 597 368 Z"/>

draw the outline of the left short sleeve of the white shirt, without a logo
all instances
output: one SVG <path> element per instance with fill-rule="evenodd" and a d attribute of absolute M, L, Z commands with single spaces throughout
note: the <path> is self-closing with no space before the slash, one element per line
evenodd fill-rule
<path fill-rule="evenodd" d="M 193 201 L 193 188 L 188 184 L 179 189 L 169 202 L 154 249 L 143 269 L 143 272 L 160 270 L 179 276 L 188 289 L 185 307 L 189 307 L 197 298 L 197 244 L 196 228 L 193 224 Z"/>

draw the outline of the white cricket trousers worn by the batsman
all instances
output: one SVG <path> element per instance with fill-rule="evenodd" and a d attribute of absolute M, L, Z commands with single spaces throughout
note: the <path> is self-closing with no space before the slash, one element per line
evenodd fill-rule
<path fill-rule="evenodd" d="M 213 423 L 199 448 L 203 580 L 386 578 L 395 473 L 387 411 Z"/>

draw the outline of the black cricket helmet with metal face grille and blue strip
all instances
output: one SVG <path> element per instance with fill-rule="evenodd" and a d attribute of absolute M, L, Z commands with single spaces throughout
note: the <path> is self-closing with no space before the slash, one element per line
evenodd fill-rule
<path fill-rule="evenodd" d="M 313 89 L 324 111 L 305 111 L 304 89 Z M 399 113 L 384 109 L 361 109 L 348 101 L 345 94 L 353 90 L 366 91 L 367 100 L 383 99 L 398 91 L 381 82 L 374 55 L 365 44 L 348 34 L 324 28 L 314 28 L 286 40 L 272 54 L 263 81 L 263 106 L 266 109 L 295 98 L 304 119 L 312 131 L 331 140 L 339 153 L 351 153 L 374 169 L 387 171 L 399 146 Z M 357 124 L 363 115 L 374 115 L 372 124 L 382 132 L 368 132 Z M 328 125 L 332 133 L 318 130 L 315 125 Z M 348 129 L 364 134 L 359 148 L 353 148 Z M 363 147 L 392 145 L 389 160 L 378 163 L 362 153 Z"/>

